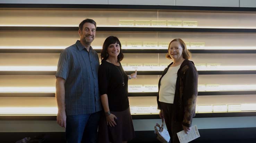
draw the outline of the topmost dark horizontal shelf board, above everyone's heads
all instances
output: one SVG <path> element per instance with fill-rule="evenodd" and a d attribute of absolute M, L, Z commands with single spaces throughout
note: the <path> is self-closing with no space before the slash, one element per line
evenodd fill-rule
<path fill-rule="evenodd" d="M 111 10 L 149 10 L 149 11 L 244 11 L 254 12 L 256 8 L 245 7 L 200 7 L 200 6 L 161 6 L 161 5 L 124 5 L 124 4 L 13 4 L 1 3 L 0 8 L 36 8 L 36 9 L 111 9 Z"/>

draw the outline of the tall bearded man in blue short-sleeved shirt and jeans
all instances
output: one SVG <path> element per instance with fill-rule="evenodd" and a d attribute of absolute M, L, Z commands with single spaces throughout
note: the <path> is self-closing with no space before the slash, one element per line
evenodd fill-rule
<path fill-rule="evenodd" d="M 96 22 L 79 24 L 80 40 L 64 49 L 56 73 L 57 123 L 66 128 L 67 143 L 96 143 L 102 105 L 98 86 L 99 57 L 91 47 Z"/>

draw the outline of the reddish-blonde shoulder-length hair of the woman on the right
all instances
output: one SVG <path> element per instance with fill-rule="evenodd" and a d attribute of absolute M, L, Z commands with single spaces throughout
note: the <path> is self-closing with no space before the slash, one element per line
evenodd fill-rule
<path fill-rule="evenodd" d="M 171 43 L 174 42 L 174 41 L 177 41 L 177 42 L 180 43 L 180 45 L 181 45 L 181 47 L 182 47 L 182 49 L 183 49 L 183 51 L 182 51 L 182 57 L 183 57 L 184 59 L 187 59 L 187 60 L 190 59 L 190 58 L 192 57 L 192 55 L 191 55 L 191 53 L 189 52 L 189 50 L 187 49 L 185 42 L 184 42 L 183 40 L 181 40 L 180 38 L 173 39 L 173 40 L 170 42 L 170 44 L 169 44 L 169 46 L 168 46 L 168 53 L 165 55 L 165 57 L 166 57 L 167 59 L 172 59 L 171 56 L 170 56 L 170 54 L 169 54 L 169 50 L 170 50 L 170 45 L 171 45 Z"/>

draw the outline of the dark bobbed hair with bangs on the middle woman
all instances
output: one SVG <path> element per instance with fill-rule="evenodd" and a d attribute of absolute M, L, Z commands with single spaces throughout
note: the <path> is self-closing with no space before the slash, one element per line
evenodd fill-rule
<path fill-rule="evenodd" d="M 120 53 L 117 56 L 117 61 L 120 62 L 123 60 L 123 52 L 122 52 L 122 48 L 121 48 L 121 42 L 119 41 L 119 39 L 117 37 L 114 36 L 109 36 L 108 38 L 106 38 L 106 40 L 103 43 L 102 46 L 102 50 L 101 50 L 101 61 L 105 61 L 106 59 L 108 59 L 108 47 L 110 44 L 114 44 L 114 43 L 118 43 L 119 47 L 120 47 Z"/>

